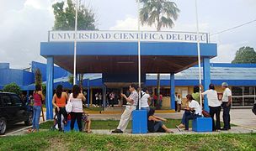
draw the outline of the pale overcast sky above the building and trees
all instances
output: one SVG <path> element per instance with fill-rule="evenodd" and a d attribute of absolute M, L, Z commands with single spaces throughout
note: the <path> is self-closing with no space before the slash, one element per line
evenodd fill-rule
<path fill-rule="evenodd" d="M 29 67 L 32 60 L 45 63 L 40 42 L 47 40 L 54 15 L 54 0 L 0 0 L 0 62 L 12 68 Z M 181 12 L 171 31 L 195 31 L 195 1 L 174 0 Z M 100 30 L 136 29 L 136 0 L 82 0 L 93 8 Z M 215 34 L 256 19 L 256 0 L 198 0 L 200 32 Z M 144 27 L 154 30 L 154 27 Z M 231 62 L 242 46 L 256 49 L 256 22 L 211 36 L 218 56 L 211 62 Z"/>

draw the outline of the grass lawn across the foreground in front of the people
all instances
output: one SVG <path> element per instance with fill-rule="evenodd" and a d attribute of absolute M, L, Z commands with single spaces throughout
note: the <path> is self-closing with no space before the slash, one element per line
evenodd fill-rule
<path fill-rule="evenodd" d="M 255 150 L 256 133 L 99 135 L 45 131 L 0 138 L 0 150 Z"/>

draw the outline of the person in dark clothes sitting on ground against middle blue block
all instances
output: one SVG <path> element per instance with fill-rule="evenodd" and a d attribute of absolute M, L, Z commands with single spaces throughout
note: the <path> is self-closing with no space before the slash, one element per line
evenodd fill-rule
<path fill-rule="evenodd" d="M 153 108 L 150 108 L 148 112 L 148 118 L 147 118 L 147 130 L 150 133 L 173 133 L 171 130 L 166 128 L 166 126 L 163 124 L 164 122 L 167 122 L 167 119 L 154 116 L 155 110 Z"/>

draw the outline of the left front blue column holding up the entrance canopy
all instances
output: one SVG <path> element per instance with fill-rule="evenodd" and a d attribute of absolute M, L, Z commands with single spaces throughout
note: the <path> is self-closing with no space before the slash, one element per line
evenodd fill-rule
<path fill-rule="evenodd" d="M 46 119 L 53 119 L 52 111 L 52 95 L 53 95 L 53 68 L 54 60 L 53 57 L 47 57 L 46 66 Z"/>

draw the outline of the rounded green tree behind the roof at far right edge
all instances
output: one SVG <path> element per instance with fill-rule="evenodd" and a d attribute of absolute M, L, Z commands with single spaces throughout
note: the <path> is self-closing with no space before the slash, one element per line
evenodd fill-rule
<path fill-rule="evenodd" d="M 256 52 L 251 47 L 241 47 L 237 50 L 232 64 L 254 64 L 256 63 Z"/>

